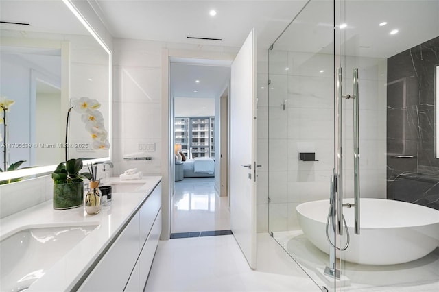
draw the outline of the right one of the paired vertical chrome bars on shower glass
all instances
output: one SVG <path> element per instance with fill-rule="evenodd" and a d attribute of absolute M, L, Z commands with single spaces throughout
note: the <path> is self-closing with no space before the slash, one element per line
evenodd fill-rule
<path fill-rule="evenodd" d="M 355 234 L 359 234 L 359 79 L 358 68 L 352 70 L 354 95 L 354 198 L 355 198 Z"/>

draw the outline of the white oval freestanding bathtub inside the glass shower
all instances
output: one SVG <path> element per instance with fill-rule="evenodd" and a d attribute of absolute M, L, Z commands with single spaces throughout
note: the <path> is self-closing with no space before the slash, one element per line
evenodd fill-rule
<path fill-rule="evenodd" d="M 344 203 L 353 199 L 344 199 Z M 329 200 L 302 203 L 296 208 L 300 227 L 323 252 Z M 439 245 L 439 211 L 390 199 L 361 199 L 360 234 L 354 233 L 354 208 L 343 208 L 351 235 L 348 249 L 337 257 L 364 265 L 393 265 L 426 256 Z M 346 232 L 345 232 L 346 233 Z M 344 237 L 342 243 L 344 244 Z"/>

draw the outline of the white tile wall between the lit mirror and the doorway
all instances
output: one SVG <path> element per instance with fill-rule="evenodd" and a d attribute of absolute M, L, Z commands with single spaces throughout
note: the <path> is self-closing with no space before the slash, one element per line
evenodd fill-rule
<path fill-rule="evenodd" d="M 164 44 L 114 40 L 113 144 L 114 174 L 136 167 L 145 175 L 161 173 L 161 54 Z M 141 152 L 139 144 L 154 143 L 151 160 L 123 160 Z"/>

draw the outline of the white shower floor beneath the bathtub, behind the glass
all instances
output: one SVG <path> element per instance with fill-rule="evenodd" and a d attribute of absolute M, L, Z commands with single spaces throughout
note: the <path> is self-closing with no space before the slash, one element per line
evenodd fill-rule
<path fill-rule="evenodd" d="M 331 287 L 321 271 L 329 255 L 315 247 L 301 230 L 273 232 L 273 237 L 320 286 Z M 427 256 L 399 265 L 359 265 L 346 262 L 337 284 L 341 291 L 439 291 L 439 247 Z M 333 284 L 332 284 L 333 287 Z"/>

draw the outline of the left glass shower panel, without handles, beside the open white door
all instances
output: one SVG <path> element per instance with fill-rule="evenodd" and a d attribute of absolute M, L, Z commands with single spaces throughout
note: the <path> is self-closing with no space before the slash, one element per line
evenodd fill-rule
<path fill-rule="evenodd" d="M 333 11 L 332 1 L 309 1 L 269 51 L 269 230 L 320 287 L 329 287 L 331 254 L 324 222 L 334 168 Z M 319 200 L 316 213 L 308 203 Z M 314 220 L 322 221 L 316 232 Z"/>

